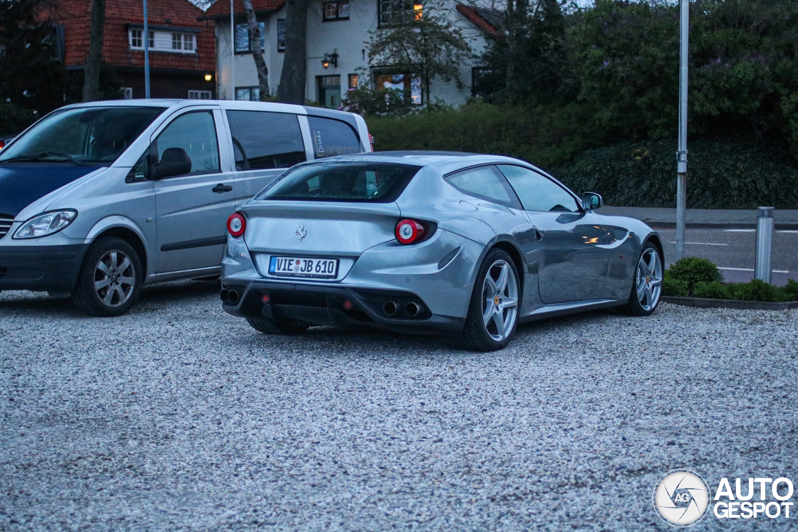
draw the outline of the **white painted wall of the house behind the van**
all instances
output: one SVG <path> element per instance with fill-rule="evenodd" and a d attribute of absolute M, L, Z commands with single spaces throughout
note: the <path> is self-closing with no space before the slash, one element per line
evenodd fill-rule
<path fill-rule="evenodd" d="M 451 9 L 448 10 L 448 18 L 454 25 L 463 30 L 475 54 L 479 55 L 485 46 L 483 34 L 454 9 L 455 4 L 453 2 L 449 3 L 449 5 Z M 276 93 L 279 85 L 282 58 L 284 56 L 284 53 L 277 50 L 277 21 L 281 18 L 285 18 L 285 8 L 277 14 L 271 14 L 267 18 L 261 19 L 265 22 L 266 33 L 266 49 L 263 57 L 269 70 L 269 88 L 272 94 Z M 240 22 L 237 21 L 236 23 Z M 316 101 L 318 99 L 317 76 L 340 75 L 342 98 L 346 97 L 349 74 L 357 73 L 361 76 L 361 84 L 365 82 L 363 74 L 364 71 L 368 72 L 369 68 L 369 52 L 365 42 L 369 41 L 369 32 L 373 30 L 377 30 L 377 0 L 350 0 L 350 18 L 348 20 L 327 22 L 322 22 L 321 0 L 311 0 L 307 14 L 307 100 Z M 231 93 L 231 88 L 234 85 L 231 84 L 230 77 L 231 38 L 229 21 L 216 23 L 216 43 L 216 61 L 218 65 L 216 76 L 218 83 L 217 94 L 219 94 L 219 99 L 231 100 L 234 97 L 233 93 Z M 330 65 L 329 68 L 324 69 L 322 67 L 322 58 L 326 53 L 333 52 L 338 53 L 338 67 Z M 460 68 L 460 80 L 464 84 L 463 89 L 457 89 L 454 82 L 445 83 L 433 79 L 430 84 L 432 100 L 440 99 L 447 104 L 454 105 L 464 103 L 471 95 L 471 69 L 473 66 L 478 65 L 476 62 L 469 62 Z M 235 87 L 253 87 L 257 85 L 258 75 L 252 54 L 235 54 Z"/>

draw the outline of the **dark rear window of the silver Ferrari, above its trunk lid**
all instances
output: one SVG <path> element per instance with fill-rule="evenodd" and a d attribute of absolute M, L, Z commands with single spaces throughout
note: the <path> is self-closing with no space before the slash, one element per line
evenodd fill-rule
<path fill-rule="evenodd" d="M 326 162 L 297 167 L 255 199 L 390 203 L 421 169 L 413 164 Z"/>

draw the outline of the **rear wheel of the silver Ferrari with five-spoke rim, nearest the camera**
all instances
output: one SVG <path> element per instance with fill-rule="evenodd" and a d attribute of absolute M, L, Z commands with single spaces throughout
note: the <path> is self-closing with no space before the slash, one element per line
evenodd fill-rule
<path fill-rule="evenodd" d="M 516 264 L 500 249 L 488 251 L 476 274 L 460 345 L 474 351 L 504 349 L 518 325 L 520 283 Z"/>

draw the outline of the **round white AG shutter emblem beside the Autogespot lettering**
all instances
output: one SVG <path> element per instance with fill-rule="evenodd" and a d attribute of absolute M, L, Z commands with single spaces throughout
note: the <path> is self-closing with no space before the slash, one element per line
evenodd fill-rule
<path fill-rule="evenodd" d="M 709 486 L 695 471 L 668 471 L 654 485 L 654 510 L 669 525 L 693 526 L 709 510 Z"/>

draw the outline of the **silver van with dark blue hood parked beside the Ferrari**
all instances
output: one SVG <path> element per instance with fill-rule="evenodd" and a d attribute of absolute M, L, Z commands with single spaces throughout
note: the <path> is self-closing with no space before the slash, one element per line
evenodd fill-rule
<path fill-rule="evenodd" d="M 152 282 L 219 275 L 235 210 L 285 168 L 371 152 L 350 112 L 117 100 L 49 113 L 0 152 L 0 290 L 71 294 L 96 316 Z"/>

